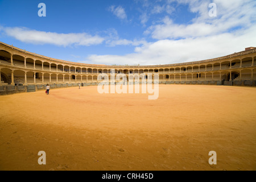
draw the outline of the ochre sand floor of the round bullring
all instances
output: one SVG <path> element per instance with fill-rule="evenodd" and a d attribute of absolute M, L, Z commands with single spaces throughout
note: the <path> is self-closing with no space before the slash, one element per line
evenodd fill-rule
<path fill-rule="evenodd" d="M 0 169 L 256 170 L 255 93 L 159 85 L 158 100 L 97 86 L 1 96 Z"/>

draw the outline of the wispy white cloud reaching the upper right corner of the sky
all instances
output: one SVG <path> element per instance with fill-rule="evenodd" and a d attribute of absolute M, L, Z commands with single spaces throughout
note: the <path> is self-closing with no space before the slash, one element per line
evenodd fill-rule
<path fill-rule="evenodd" d="M 189 10 L 199 16 L 192 19 L 190 24 L 177 24 L 166 16 L 161 23 L 147 28 L 145 34 L 151 34 L 154 39 L 197 38 L 198 36 L 219 35 L 232 31 L 237 27 L 248 28 L 256 20 L 256 2 L 252 0 L 213 1 L 217 5 L 217 17 L 209 16 L 210 1 L 185 1 Z M 254 7 L 254 8 L 253 8 Z"/>

